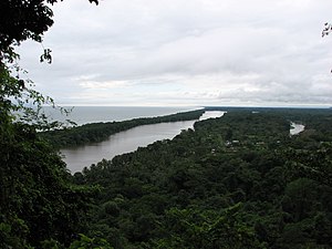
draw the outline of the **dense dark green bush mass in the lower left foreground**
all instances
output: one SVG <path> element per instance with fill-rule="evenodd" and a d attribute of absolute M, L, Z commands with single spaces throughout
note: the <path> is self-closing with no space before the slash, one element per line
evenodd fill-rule
<path fill-rule="evenodd" d="M 54 238 L 62 243 L 83 226 L 83 214 L 92 190 L 71 184 L 71 176 L 60 156 L 40 141 L 30 125 L 11 124 L 11 137 L 0 143 L 0 222 L 24 232 L 14 232 L 24 245 L 38 246 Z M 15 218 L 18 217 L 18 218 Z M 6 236 L 11 237 L 11 230 Z M 19 247 L 18 247 L 19 248 Z"/>

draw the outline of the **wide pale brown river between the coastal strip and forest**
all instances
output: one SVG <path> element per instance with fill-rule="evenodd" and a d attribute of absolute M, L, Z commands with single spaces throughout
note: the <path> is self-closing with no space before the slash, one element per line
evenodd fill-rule
<path fill-rule="evenodd" d="M 225 112 L 205 112 L 200 121 L 222 116 Z M 160 123 L 142 125 L 125 132 L 116 133 L 101 143 L 91 143 L 84 146 L 61 149 L 63 160 L 71 173 L 81 172 L 85 166 L 91 166 L 97 162 L 112 159 L 116 155 L 136 151 L 138 147 L 147 146 L 156 141 L 172 139 L 181 129 L 194 127 L 196 121 Z"/>

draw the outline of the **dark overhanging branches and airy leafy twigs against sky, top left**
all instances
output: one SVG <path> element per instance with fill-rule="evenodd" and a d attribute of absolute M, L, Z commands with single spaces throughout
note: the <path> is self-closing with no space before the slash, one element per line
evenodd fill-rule
<path fill-rule="evenodd" d="M 62 0 L 60 0 L 62 1 Z M 98 0 L 89 0 L 98 3 Z M 2 0 L 0 1 L 0 115 L 4 121 L 10 113 L 22 111 L 24 121 L 44 121 L 40 114 L 40 106 L 49 103 L 54 105 L 51 97 L 32 90 L 32 82 L 20 79 L 22 70 L 13 63 L 19 60 L 14 46 L 31 39 L 42 42 L 45 31 L 53 24 L 53 12 L 50 4 L 59 0 Z M 51 50 L 44 49 L 41 61 L 51 62 Z M 27 107 L 37 105 L 35 108 Z M 35 112 L 37 110 L 37 112 Z M 62 110 L 63 111 L 63 110 Z M 15 116 L 17 117 L 17 116 Z"/>

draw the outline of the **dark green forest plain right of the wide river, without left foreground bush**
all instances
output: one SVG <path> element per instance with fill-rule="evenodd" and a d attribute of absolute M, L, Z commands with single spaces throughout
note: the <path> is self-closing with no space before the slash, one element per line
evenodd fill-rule
<path fill-rule="evenodd" d="M 299 115 L 321 126 L 290 137 Z M 331 117 L 228 110 L 92 165 L 73 176 L 102 187 L 84 234 L 114 248 L 331 248 Z"/>

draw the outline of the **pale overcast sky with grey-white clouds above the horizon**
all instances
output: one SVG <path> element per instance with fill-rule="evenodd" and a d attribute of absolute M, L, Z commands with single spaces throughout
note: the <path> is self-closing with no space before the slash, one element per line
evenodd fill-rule
<path fill-rule="evenodd" d="M 61 105 L 332 106 L 331 0 L 66 0 L 21 66 Z M 44 48 L 52 64 L 40 63 Z"/>

